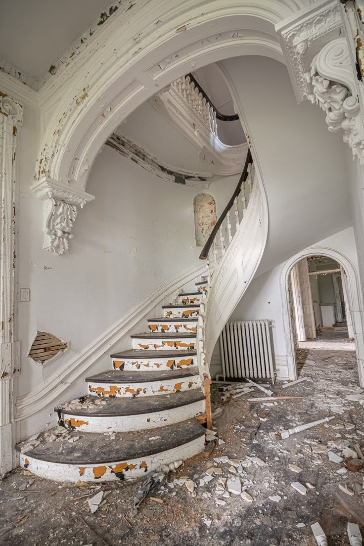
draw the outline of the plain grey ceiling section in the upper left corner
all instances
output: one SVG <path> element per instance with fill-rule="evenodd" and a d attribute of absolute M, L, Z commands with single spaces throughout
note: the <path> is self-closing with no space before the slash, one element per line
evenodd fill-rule
<path fill-rule="evenodd" d="M 111 0 L 0 0 L 0 57 L 34 78 L 51 64 Z"/>

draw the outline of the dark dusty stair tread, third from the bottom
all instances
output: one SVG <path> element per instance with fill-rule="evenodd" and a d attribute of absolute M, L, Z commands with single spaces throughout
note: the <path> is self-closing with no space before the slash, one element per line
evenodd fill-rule
<path fill-rule="evenodd" d="M 94 376 L 86 377 L 85 381 L 97 382 L 97 383 L 144 383 L 153 381 L 163 381 L 164 379 L 184 379 L 186 377 L 192 377 L 198 375 L 198 369 L 194 370 L 156 370 L 150 371 L 135 371 L 135 372 L 121 372 L 119 370 L 107 370 L 105 372 L 97 373 Z"/>

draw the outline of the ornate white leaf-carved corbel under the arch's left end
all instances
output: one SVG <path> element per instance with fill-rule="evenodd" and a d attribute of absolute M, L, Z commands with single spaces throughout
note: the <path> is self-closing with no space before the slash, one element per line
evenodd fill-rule
<path fill-rule="evenodd" d="M 32 191 L 44 201 L 44 250 L 67 254 L 77 207 L 82 209 L 94 196 L 48 177 L 36 182 Z"/>

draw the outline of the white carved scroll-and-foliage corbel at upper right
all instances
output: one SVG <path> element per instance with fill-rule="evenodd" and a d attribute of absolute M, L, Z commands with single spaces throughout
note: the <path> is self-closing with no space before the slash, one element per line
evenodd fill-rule
<path fill-rule="evenodd" d="M 364 165 L 364 123 L 345 38 L 332 40 L 321 49 L 312 61 L 309 77 L 313 86 L 309 99 L 326 112 L 331 132 L 343 130 L 353 158 Z"/>

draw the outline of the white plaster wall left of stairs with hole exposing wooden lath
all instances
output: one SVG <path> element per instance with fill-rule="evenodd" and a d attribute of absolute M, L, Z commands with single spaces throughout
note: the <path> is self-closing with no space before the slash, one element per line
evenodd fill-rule
<path fill-rule="evenodd" d="M 25 116 L 26 117 L 26 116 Z M 20 287 L 31 301 L 20 304 L 21 373 L 19 394 L 43 383 L 67 364 L 154 289 L 201 264 L 195 246 L 193 200 L 200 188 L 166 182 L 105 147 L 97 157 L 87 191 L 95 200 L 79 212 L 70 253 L 56 256 L 42 249 L 43 202 L 30 192 L 33 161 L 28 139 L 21 158 Z M 34 148 L 34 150 L 33 150 Z M 35 146 L 32 145 L 34 155 Z M 30 154 L 31 155 L 31 154 Z M 219 214 L 238 176 L 216 179 L 208 192 Z M 139 331 L 146 330 L 146 323 Z M 37 332 L 67 341 L 68 348 L 42 366 L 27 357 Z M 130 347 L 128 336 L 118 348 Z M 87 373 L 108 369 L 108 354 Z M 55 424 L 55 403 L 86 394 L 85 374 L 44 410 L 21 422 L 21 436 Z"/>

